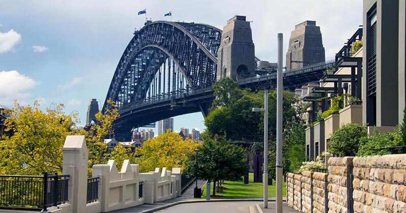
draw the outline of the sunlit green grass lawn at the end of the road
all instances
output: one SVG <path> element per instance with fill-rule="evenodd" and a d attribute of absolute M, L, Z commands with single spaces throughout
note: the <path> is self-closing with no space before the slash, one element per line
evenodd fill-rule
<path fill-rule="evenodd" d="M 276 197 L 275 181 L 272 186 L 268 186 L 268 197 Z M 216 184 L 217 185 L 217 184 Z M 263 183 L 254 183 L 254 173 L 249 173 L 249 184 L 244 184 L 244 181 L 233 182 L 224 181 L 224 192 L 216 192 L 216 196 L 213 197 L 213 183 L 211 186 L 210 194 L 212 198 L 259 198 L 263 197 Z M 206 199 L 206 185 L 202 187 L 204 190 L 201 198 Z M 286 183 L 282 183 L 282 195 L 286 197 Z"/>

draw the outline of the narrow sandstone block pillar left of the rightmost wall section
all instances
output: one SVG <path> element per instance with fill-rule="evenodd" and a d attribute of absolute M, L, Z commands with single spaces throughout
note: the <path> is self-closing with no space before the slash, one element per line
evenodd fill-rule
<path fill-rule="evenodd" d="M 350 212 L 349 170 L 354 157 L 328 159 L 328 213 Z"/>

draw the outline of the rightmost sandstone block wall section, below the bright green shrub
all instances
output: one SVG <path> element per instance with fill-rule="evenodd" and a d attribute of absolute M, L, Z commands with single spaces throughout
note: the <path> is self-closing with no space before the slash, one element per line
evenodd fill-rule
<path fill-rule="evenodd" d="M 354 158 L 354 212 L 405 212 L 406 155 Z"/>

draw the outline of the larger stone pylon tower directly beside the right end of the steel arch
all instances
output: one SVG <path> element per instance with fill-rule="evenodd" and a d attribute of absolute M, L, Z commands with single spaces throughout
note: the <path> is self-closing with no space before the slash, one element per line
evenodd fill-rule
<path fill-rule="evenodd" d="M 250 22 L 245 16 L 234 16 L 227 21 L 218 50 L 217 81 L 234 81 L 255 76 L 255 48 Z"/>

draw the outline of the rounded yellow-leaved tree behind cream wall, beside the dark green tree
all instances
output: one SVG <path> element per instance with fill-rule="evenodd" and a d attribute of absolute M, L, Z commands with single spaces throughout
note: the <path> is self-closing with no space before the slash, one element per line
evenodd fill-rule
<path fill-rule="evenodd" d="M 136 154 L 140 156 L 136 162 L 140 165 L 140 172 L 153 171 L 156 167 L 181 167 L 183 171 L 188 155 L 193 154 L 198 145 L 190 138 L 183 140 L 180 134 L 167 130 L 145 141 L 143 147 L 136 148 Z"/>

